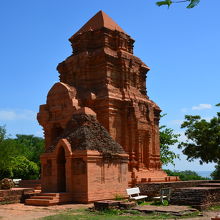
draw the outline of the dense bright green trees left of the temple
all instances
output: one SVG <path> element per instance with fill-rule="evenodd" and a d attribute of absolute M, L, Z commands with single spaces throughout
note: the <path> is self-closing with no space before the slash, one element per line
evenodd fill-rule
<path fill-rule="evenodd" d="M 39 176 L 40 154 L 44 140 L 33 135 L 16 135 L 8 138 L 0 126 L 0 179 L 33 179 Z"/>

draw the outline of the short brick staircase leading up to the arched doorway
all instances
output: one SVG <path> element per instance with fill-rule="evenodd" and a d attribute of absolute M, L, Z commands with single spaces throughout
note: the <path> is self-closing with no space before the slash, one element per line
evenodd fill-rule
<path fill-rule="evenodd" d="M 51 206 L 72 202 L 71 193 L 39 193 L 25 200 L 26 205 Z"/>

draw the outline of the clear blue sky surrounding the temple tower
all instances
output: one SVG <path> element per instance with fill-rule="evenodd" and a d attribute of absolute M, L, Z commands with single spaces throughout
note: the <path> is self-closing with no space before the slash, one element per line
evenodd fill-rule
<path fill-rule="evenodd" d="M 42 136 L 36 113 L 58 81 L 57 64 L 71 54 L 68 38 L 103 10 L 136 40 L 135 55 L 151 68 L 148 95 L 167 113 L 161 124 L 183 134 L 185 114 L 209 119 L 218 110 L 219 8 L 219 0 L 201 0 L 191 10 L 184 4 L 159 8 L 154 0 L 1 1 L 0 125 L 12 136 Z M 175 166 L 213 168 L 189 163 L 184 156 Z"/>

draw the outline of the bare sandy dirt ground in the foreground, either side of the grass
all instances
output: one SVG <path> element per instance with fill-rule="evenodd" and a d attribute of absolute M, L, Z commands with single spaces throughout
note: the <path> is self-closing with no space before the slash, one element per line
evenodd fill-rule
<path fill-rule="evenodd" d="M 58 214 L 68 209 L 80 209 L 92 207 L 93 204 L 66 204 L 49 207 L 27 206 L 24 204 L 7 204 L 0 205 L 0 219 L 1 220 L 32 220 L 41 217 Z M 203 216 L 193 218 L 193 220 L 211 220 L 219 212 L 204 212 Z M 192 218 L 189 218 L 192 219 Z"/>

